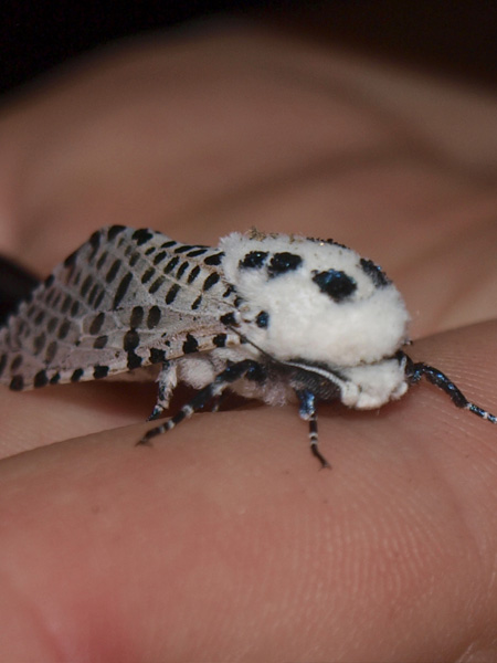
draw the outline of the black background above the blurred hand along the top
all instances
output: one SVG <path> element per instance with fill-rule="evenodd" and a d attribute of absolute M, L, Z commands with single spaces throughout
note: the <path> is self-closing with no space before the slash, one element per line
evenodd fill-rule
<path fill-rule="evenodd" d="M 495 0 L 2 0 L 0 93 L 108 41 L 220 14 L 250 17 L 305 39 L 345 44 L 476 84 L 495 83 Z"/>

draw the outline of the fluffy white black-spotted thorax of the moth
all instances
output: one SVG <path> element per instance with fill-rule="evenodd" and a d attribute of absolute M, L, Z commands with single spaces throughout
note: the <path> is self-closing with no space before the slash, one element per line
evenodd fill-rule
<path fill-rule="evenodd" d="M 373 262 L 330 240 L 240 233 L 223 270 L 245 303 L 244 333 L 278 359 L 371 364 L 406 340 L 403 299 Z"/>

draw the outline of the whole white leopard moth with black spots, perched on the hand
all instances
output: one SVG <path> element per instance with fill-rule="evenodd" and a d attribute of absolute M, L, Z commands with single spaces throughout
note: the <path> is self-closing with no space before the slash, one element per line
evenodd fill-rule
<path fill-rule="evenodd" d="M 272 406 L 296 400 L 318 449 L 317 404 L 374 409 L 423 376 L 497 423 L 438 369 L 403 351 L 409 314 L 380 266 L 332 240 L 252 231 L 218 248 L 103 228 L 20 304 L 0 330 L 0 383 L 23 390 L 156 372 L 149 419 L 179 381 L 193 399 L 148 443 L 228 388 Z"/>

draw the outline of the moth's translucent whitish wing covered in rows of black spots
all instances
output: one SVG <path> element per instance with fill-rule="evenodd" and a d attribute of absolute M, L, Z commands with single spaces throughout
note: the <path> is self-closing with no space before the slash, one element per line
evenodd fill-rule
<path fill-rule="evenodd" d="M 89 380 L 239 343 L 220 322 L 235 295 L 221 255 L 150 230 L 95 232 L 0 332 L 0 382 Z"/>

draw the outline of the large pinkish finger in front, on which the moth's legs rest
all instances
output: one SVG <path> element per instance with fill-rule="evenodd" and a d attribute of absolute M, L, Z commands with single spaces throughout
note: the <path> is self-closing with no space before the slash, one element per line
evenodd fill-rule
<path fill-rule="evenodd" d="M 495 333 L 416 352 L 483 402 Z M 3 657 L 388 662 L 490 646 L 495 427 L 429 385 L 379 414 L 337 410 L 320 418 L 331 472 L 290 408 L 202 414 L 152 449 L 133 427 L 4 461 Z"/>

